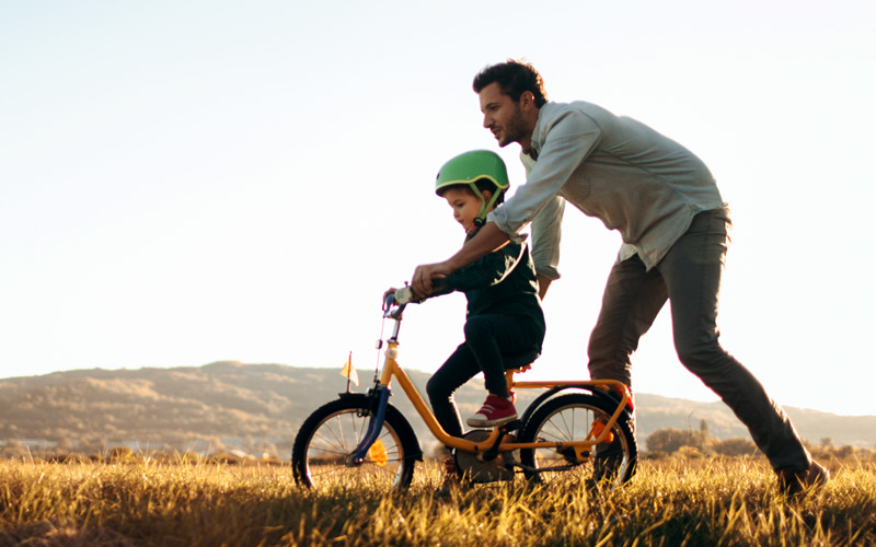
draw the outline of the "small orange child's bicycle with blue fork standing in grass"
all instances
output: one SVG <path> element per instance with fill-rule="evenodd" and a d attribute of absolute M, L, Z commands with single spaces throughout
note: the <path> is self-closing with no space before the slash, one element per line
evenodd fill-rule
<path fill-rule="evenodd" d="M 395 490 L 411 485 L 423 452 L 411 423 L 389 403 L 393 380 L 429 432 L 452 449 L 457 468 L 471 481 L 510 480 L 522 474 L 534 481 L 573 477 L 613 488 L 630 480 L 638 453 L 629 421 L 633 399 L 626 386 L 612 380 L 517 381 L 515 375 L 530 368 L 539 357 L 537 351 L 504 357 L 510 389 L 546 389 L 518 420 L 492 430 L 474 429 L 461 438 L 448 434 L 396 360 L 402 315 L 410 300 L 410 292 L 407 299 L 404 294 L 390 293 L 383 301 L 383 321 L 395 323 L 373 387 L 367 394 L 339 394 L 301 426 L 292 446 L 298 484 L 391 485 Z M 378 350 L 382 347 L 381 331 Z M 597 458 L 593 447 L 598 444 L 611 446 L 611 456 L 600 453 Z"/>

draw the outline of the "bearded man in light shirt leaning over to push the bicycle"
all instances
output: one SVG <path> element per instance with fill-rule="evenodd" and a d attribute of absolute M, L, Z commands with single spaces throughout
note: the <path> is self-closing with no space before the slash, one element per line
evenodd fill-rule
<path fill-rule="evenodd" d="M 612 267 L 590 336 L 590 377 L 631 385 L 631 356 L 667 300 L 679 359 L 748 427 L 779 475 L 797 492 L 823 485 L 784 410 L 718 344 L 718 289 L 729 212 L 705 164 L 689 150 L 634 119 L 585 102 L 549 103 L 541 75 L 509 60 L 474 79 L 484 127 L 506 147 L 517 142 L 527 182 L 449 259 L 416 268 L 413 289 L 431 291 L 447 276 L 532 223 L 532 254 L 544 298 L 556 270 L 564 200 L 618 230 L 623 246 Z M 598 451 L 609 457 L 612 450 Z"/>

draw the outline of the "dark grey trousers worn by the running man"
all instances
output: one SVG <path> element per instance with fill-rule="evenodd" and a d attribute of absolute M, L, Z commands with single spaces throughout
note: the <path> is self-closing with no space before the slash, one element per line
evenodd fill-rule
<path fill-rule="evenodd" d="M 614 265 L 590 335 L 590 377 L 631 385 L 630 357 L 668 300 L 681 363 L 748 427 L 774 469 L 805 469 L 811 458 L 785 411 L 718 344 L 718 290 L 728 221 L 723 210 L 699 213 L 688 232 L 648 271 L 638 256 Z"/>

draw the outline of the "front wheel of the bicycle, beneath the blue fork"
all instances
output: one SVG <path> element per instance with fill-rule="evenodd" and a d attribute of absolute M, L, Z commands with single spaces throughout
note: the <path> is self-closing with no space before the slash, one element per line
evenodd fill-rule
<path fill-rule="evenodd" d="M 360 464 L 347 462 L 368 432 L 368 399 L 341 398 L 304 420 L 292 446 L 292 473 L 307 487 L 404 489 L 411 485 L 419 450 L 407 421 L 393 408 Z"/>

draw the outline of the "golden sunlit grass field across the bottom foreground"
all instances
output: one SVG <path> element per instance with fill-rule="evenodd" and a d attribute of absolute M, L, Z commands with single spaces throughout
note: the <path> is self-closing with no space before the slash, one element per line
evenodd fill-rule
<path fill-rule="evenodd" d="M 876 545 L 876 465 L 785 500 L 762 458 L 644 462 L 613 492 L 515 482 L 310 491 L 288 466 L 0 463 L 0 546 Z"/>

